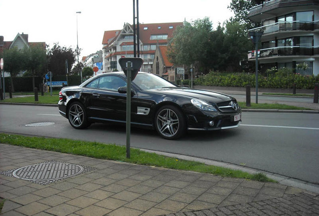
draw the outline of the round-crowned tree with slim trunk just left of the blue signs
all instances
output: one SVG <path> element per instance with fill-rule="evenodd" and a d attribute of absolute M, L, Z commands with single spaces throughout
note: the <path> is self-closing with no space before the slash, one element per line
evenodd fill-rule
<path fill-rule="evenodd" d="M 32 85 L 35 88 L 35 75 L 42 76 L 46 72 L 47 54 L 41 46 L 25 46 L 22 49 L 24 55 L 23 66 L 32 72 Z"/>

